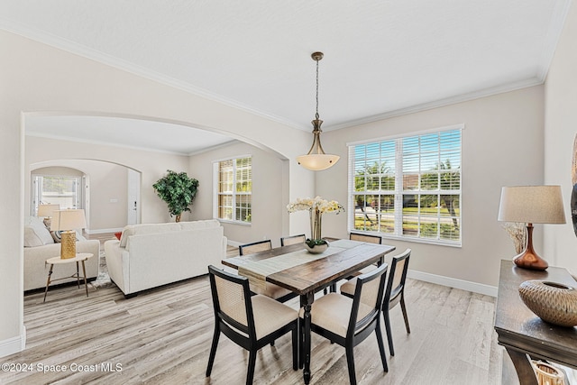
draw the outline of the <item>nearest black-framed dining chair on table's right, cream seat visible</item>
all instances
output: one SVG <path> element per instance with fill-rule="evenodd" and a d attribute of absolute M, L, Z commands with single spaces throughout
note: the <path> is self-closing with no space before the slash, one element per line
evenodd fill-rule
<path fill-rule="evenodd" d="M 386 273 L 387 264 L 383 263 L 376 270 L 357 277 L 353 298 L 329 293 L 317 299 L 311 306 L 311 331 L 324 336 L 331 343 L 344 347 L 351 384 L 357 383 L 353 348 L 361 344 L 373 331 L 377 335 L 382 368 L 389 371 L 380 331 Z M 303 314 L 304 310 L 301 308 L 299 312 L 301 325 L 304 322 Z M 301 335 L 301 341 L 302 339 Z"/>

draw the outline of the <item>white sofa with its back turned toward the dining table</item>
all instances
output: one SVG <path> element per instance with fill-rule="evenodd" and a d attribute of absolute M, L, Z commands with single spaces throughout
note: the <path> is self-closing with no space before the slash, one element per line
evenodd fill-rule
<path fill-rule="evenodd" d="M 226 257 L 224 228 L 215 220 L 128 225 L 105 242 L 110 279 L 126 298 L 139 291 L 208 273 Z"/>

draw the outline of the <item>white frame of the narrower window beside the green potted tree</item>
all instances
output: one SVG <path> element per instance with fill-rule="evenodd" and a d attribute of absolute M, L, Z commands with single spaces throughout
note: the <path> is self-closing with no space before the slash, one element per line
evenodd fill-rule
<path fill-rule="evenodd" d="M 250 183 L 251 183 L 251 190 L 248 192 L 238 192 L 236 191 L 236 185 L 237 185 L 237 160 L 243 160 L 243 159 L 247 159 L 249 158 L 251 160 L 251 179 Z M 220 164 L 223 163 L 224 161 L 232 161 L 233 163 L 233 181 L 232 181 L 232 185 L 233 185 L 233 191 L 230 193 L 221 193 L 220 192 L 220 183 L 221 183 L 221 179 L 220 179 Z M 219 203 L 220 203 L 220 196 L 231 196 L 232 197 L 232 215 L 233 215 L 233 219 L 228 219 L 228 218 L 221 218 L 219 217 Z M 243 221 L 240 220 L 236 217 L 236 213 L 237 213 L 237 197 L 250 197 L 250 215 L 251 215 L 251 220 L 250 221 Z M 243 154 L 243 155 L 238 155 L 238 156 L 234 156 L 234 157 L 229 157 L 229 158 L 224 158 L 224 159 L 220 159 L 220 160 L 213 160 L 213 218 L 215 218 L 216 220 L 218 220 L 219 222 L 223 222 L 223 223 L 230 223 L 230 224 L 235 224 L 235 225 L 252 225 L 252 154 Z"/>

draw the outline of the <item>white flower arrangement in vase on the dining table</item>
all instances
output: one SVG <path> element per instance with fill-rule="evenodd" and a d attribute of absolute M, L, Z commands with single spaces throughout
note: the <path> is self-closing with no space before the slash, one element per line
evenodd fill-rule
<path fill-rule="evenodd" d="M 289 213 L 308 210 L 308 215 L 310 216 L 310 239 L 305 241 L 307 250 L 309 252 L 324 252 L 328 247 L 328 243 L 322 236 L 323 214 L 339 214 L 344 211 L 344 207 L 335 200 L 326 200 L 323 197 L 315 197 L 314 199 L 307 197 L 304 199 L 297 198 L 295 202 L 289 203 L 287 210 Z"/>

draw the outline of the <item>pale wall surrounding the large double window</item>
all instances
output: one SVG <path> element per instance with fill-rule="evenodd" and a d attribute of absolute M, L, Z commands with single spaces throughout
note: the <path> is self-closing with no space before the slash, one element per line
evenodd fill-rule
<path fill-rule="evenodd" d="M 515 254 L 497 221 L 503 186 L 543 182 L 543 86 L 403 115 L 351 129 L 323 133 L 325 151 L 341 160 L 319 173 L 316 191 L 347 202 L 347 142 L 411 134 L 453 124 L 463 130 L 463 247 L 385 240 L 398 252 L 409 247 L 409 269 L 497 286 L 501 259 Z M 527 155 L 530 154 L 530 155 Z M 347 215 L 326 215 L 323 233 L 346 236 Z M 542 232 L 536 225 L 536 248 Z"/>

